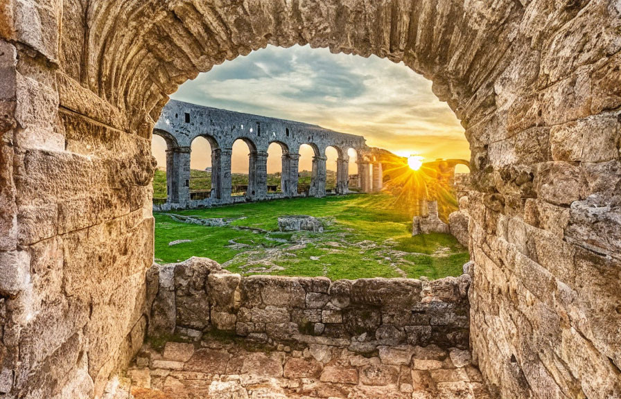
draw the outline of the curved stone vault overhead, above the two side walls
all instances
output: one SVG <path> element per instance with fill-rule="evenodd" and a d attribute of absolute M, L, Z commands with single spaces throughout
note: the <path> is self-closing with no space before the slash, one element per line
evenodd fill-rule
<path fill-rule="evenodd" d="M 524 12 L 517 1 L 93 1 L 88 44 L 80 54 L 63 41 L 62 54 L 72 66 L 80 55 L 82 70 L 70 72 L 96 94 L 157 120 L 168 94 L 214 64 L 267 44 L 310 43 L 403 61 L 470 121 L 494 104 L 491 82 L 511 58 Z"/>

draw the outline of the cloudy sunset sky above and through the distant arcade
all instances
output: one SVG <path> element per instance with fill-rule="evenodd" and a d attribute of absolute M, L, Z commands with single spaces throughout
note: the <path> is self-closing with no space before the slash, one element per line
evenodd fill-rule
<path fill-rule="evenodd" d="M 404 157 L 470 159 L 460 121 L 432 93 L 430 80 L 403 63 L 374 55 L 364 58 L 332 54 L 326 48 L 268 46 L 200 73 L 171 98 L 360 134 L 367 145 Z M 211 165 L 206 140 L 196 139 L 192 148 L 192 168 Z M 159 166 L 166 164 L 165 149 L 164 139 L 154 136 Z M 238 141 L 233 150 L 233 172 L 247 172 L 247 146 Z M 279 147 L 272 145 L 268 154 L 268 172 L 279 171 Z M 300 154 L 300 169 L 310 170 L 312 150 L 301 148 Z M 326 155 L 328 168 L 335 170 L 335 151 Z M 355 173 L 353 168 L 351 162 Z"/>

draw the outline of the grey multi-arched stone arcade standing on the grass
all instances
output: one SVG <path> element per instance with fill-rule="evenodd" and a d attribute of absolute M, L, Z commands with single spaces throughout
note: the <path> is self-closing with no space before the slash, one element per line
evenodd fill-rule
<path fill-rule="evenodd" d="M 193 208 L 234 202 L 231 197 L 231 154 L 236 140 L 245 141 L 250 148 L 249 184 L 245 193 L 247 200 L 298 195 L 299 148 L 310 145 L 314 151 L 312 181 L 309 195 L 326 195 L 326 148 L 338 152 L 337 194 L 346 194 L 349 178 L 349 154 L 353 148 L 359 154 L 358 169 L 362 170 L 360 185 L 364 192 L 371 186 L 381 187 L 381 178 L 371 184 L 369 170 L 381 175 L 381 163 L 369 159 L 371 148 L 362 136 L 334 132 L 317 125 L 308 125 L 277 118 L 267 118 L 239 112 L 202 107 L 170 100 L 162 109 L 154 134 L 166 140 L 166 186 L 168 201 L 160 208 Z M 190 195 L 191 143 L 196 137 L 205 137 L 211 144 L 211 195 L 206 199 L 192 199 Z M 283 151 L 281 194 L 268 195 L 268 147 L 278 143 Z"/>

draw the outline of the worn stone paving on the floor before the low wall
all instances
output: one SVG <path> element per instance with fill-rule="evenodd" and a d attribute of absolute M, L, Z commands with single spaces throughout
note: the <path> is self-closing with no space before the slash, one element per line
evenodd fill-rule
<path fill-rule="evenodd" d="M 438 346 L 347 348 L 254 345 L 209 337 L 145 344 L 107 399 L 489 398 L 469 351 Z"/>

